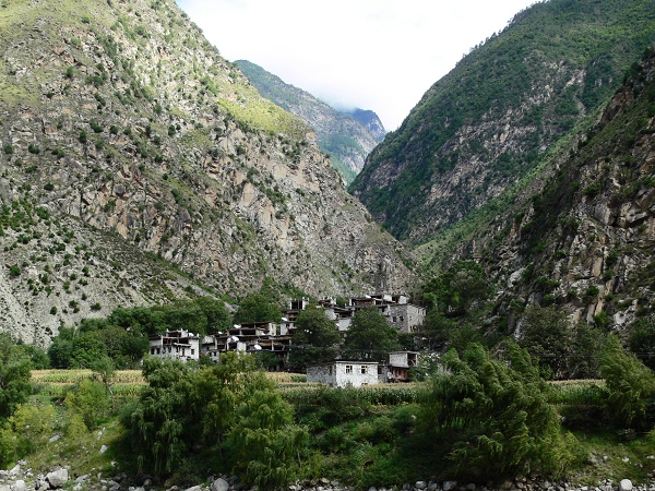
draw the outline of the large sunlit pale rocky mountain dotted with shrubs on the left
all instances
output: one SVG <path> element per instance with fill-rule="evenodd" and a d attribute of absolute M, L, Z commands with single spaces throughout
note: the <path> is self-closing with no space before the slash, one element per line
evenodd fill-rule
<path fill-rule="evenodd" d="M 114 307 L 266 277 L 404 289 L 402 247 L 314 133 L 172 0 L 0 7 L 0 325 L 46 344 Z"/>

